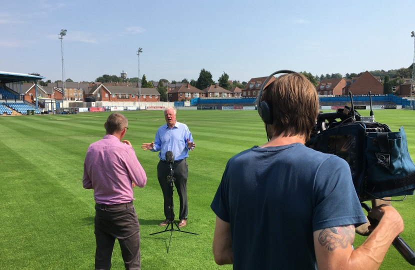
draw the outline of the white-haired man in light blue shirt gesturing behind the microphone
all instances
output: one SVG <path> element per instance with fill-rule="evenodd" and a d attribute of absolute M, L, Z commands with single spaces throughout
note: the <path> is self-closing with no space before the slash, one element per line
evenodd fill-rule
<path fill-rule="evenodd" d="M 173 177 L 175 178 L 174 185 L 176 186 L 178 197 L 180 199 L 180 210 L 178 223 L 179 227 L 186 225 L 187 222 L 187 162 L 186 157 L 188 151 L 193 150 L 193 138 L 187 125 L 176 121 L 176 109 L 173 107 L 165 107 L 164 118 L 166 124 L 163 124 L 157 129 L 154 141 L 151 143 L 143 143 L 141 148 L 153 152 L 160 151 L 158 157 L 160 161 L 157 164 L 157 178 L 160 183 L 161 191 L 164 198 L 164 215 L 165 220 L 159 225 L 164 226 L 170 220 L 174 220 L 174 216 L 170 216 L 170 184 L 167 182 L 169 172 L 169 165 L 165 161 L 165 153 L 167 151 L 173 152 Z M 174 213 L 173 213 L 174 214 Z"/>

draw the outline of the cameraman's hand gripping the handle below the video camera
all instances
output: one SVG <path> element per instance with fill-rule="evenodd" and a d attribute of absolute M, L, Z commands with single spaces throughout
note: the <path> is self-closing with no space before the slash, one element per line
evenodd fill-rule
<path fill-rule="evenodd" d="M 403 220 L 400 214 L 396 211 L 396 209 L 390 204 L 381 204 L 379 206 L 373 207 L 371 211 L 369 211 L 368 216 L 379 220 L 379 223 L 386 223 L 387 226 L 390 228 L 398 231 L 396 233 L 399 234 L 403 230 Z M 375 226 L 370 225 L 368 227 L 369 230 L 374 230 Z"/>

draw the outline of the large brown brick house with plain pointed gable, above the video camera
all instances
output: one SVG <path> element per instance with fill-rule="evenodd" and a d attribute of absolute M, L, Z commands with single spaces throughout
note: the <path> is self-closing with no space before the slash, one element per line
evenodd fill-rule
<path fill-rule="evenodd" d="M 351 81 L 346 80 L 345 86 L 341 89 L 341 94 L 382 94 L 383 84 L 380 82 L 380 77 L 374 77 L 369 71 L 360 72 L 356 77 L 352 77 Z"/>

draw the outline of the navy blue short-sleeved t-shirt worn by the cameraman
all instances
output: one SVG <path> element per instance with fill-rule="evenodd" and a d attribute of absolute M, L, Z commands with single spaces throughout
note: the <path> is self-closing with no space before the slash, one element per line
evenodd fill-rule
<path fill-rule="evenodd" d="M 346 161 L 301 143 L 230 158 L 210 207 L 230 223 L 234 269 L 315 269 L 313 231 L 366 222 Z"/>

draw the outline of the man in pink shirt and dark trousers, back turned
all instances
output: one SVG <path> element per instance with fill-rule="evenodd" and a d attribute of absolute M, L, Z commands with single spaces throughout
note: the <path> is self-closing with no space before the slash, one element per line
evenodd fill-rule
<path fill-rule="evenodd" d="M 83 163 L 84 188 L 95 199 L 95 269 L 110 269 L 115 238 L 125 269 L 140 269 L 140 233 L 132 188 L 143 187 L 147 177 L 128 140 L 127 118 L 118 112 L 108 116 L 106 135 L 89 145 Z"/>

